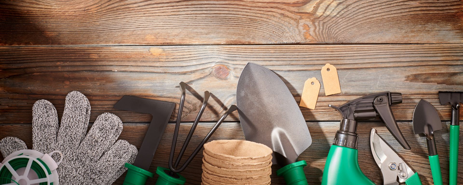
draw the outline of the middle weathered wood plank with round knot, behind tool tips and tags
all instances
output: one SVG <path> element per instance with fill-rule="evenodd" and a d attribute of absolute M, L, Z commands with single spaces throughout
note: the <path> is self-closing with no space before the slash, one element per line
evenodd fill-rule
<path fill-rule="evenodd" d="M 392 106 L 397 120 L 412 120 L 420 99 L 434 105 L 441 120 L 450 120 L 450 105 L 440 105 L 437 93 L 463 90 L 461 44 L 0 47 L 0 123 L 30 123 L 38 99 L 50 100 L 61 115 L 66 94 L 74 90 L 90 100 L 92 121 L 109 111 L 124 122 L 150 122 L 150 115 L 113 105 L 123 95 L 178 104 L 180 81 L 188 84 L 182 121 L 194 121 L 204 91 L 212 95 L 201 120 L 216 121 L 236 103 L 238 78 L 247 62 L 275 71 L 298 103 L 304 81 L 321 79 L 325 63 L 335 65 L 342 93 L 325 96 L 320 81 L 316 109 L 300 108 L 308 121 L 338 121 L 338 112 L 328 104 L 382 91 L 403 94 L 403 103 Z M 238 120 L 236 112 L 227 117 Z"/>

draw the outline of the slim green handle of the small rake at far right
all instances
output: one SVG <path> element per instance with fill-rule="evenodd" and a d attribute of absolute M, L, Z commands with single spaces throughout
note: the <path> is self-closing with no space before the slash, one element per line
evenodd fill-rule
<path fill-rule="evenodd" d="M 458 141 L 460 141 L 460 125 L 450 125 L 450 185 L 457 185 Z"/>

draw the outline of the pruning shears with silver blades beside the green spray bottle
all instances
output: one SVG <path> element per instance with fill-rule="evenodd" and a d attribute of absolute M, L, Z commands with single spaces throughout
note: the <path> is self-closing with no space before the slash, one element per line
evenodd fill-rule
<path fill-rule="evenodd" d="M 421 185 L 418 173 L 414 173 L 407 163 L 376 134 L 376 129 L 371 129 L 370 148 L 376 164 L 381 169 L 383 185 L 399 185 L 399 183 Z"/>

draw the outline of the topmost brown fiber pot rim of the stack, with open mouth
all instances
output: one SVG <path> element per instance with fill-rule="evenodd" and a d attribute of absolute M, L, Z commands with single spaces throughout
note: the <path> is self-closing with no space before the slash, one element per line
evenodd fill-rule
<path fill-rule="evenodd" d="M 204 153 L 230 162 L 258 163 L 271 160 L 272 149 L 246 140 L 215 140 L 204 144 Z"/>

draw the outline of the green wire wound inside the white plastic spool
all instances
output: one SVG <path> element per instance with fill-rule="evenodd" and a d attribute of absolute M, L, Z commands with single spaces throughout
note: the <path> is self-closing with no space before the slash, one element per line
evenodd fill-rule
<path fill-rule="evenodd" d="M 8 163 L 11 167 L 13 167 L 14 171 L 17 171 L 20 168 L 27 167 L 27 163 L 29 162 L 29 160 L 32 160 L 32 159 L 27 158 L 27 157 L 20 157 L 20 158 L 9 160 L 6 163 Z M 45 166 L 46 172 L 42 168 L 42 166 L 40 166 L 38 162 L 36 162 L 35 160 L 32 161 L 31 169 L 37 174 L 38 179 L 47 178 L 47 173 L 49 175 L 51 174 L 50 169 L 42 160 L 40 160 L 40 158 L 37 158 L 36 160 L 38 160 L 40 163 L 42 163 L 43 166 Z M 13 173 L 11 173 L 6 166 L 3 166 L 0 169 L 0 185 L 11 183 L 11 180 L 13 180 L 11 179 L 12 177 L 13 177 Z M 16 181 L 15 183 L 18 184 Z M 39 183 L 39 185 L 48 185 L 48 182 L 41 182 Z M 53 185 L 53 183 L 50 183 L 50 185 Z"/>

